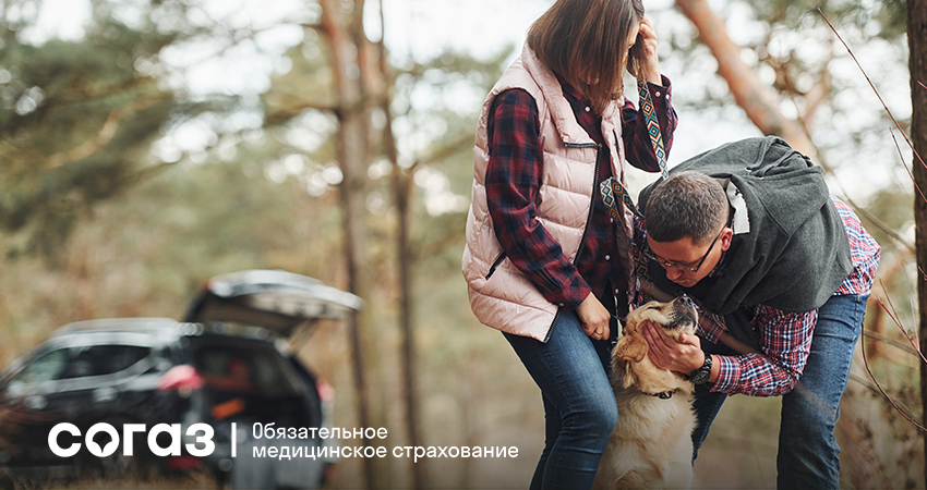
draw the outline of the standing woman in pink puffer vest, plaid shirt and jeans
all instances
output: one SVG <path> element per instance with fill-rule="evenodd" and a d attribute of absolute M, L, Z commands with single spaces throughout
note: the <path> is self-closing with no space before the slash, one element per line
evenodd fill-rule
<path fill-rule="evenodd" d="M 669 149 L 670 81 L 640 0 L 557 0 L 477 128 L 464 274 L 473 313 L 503 331 L 543 394 L 532 489 L 591 487 L 618 416 L 609 346 L 634 284 L 630 220 L 613 223 L 599 188 L 624 182 L 625 160 L 659 169 L 643 115 L 622 95 L 626 66 L 648 82 Z"/>

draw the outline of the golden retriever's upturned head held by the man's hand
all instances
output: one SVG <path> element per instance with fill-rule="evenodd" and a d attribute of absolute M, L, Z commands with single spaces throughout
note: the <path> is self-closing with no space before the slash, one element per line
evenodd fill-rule
<path fill-rule="evenodd" d="M 650 302 L 628 314 L 622 330 L 622 339 L 612 351 L 612 367 L 621 376 L 624 388 L 636 385 L 641 391 L 655 393 L 679 388 L 683 379 L 666 369 L 659 369 L 647 357 L 647 339 L 641 331 L 645 321 L 661 327 L 664 335 L 678 341 L 679 335 L 695 333 L 698 313 L 695 304 L 686 296 L 669 303 Z"/>

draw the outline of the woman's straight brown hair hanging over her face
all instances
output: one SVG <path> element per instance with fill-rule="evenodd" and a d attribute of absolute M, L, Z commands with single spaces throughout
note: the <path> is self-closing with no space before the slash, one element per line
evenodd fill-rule
<path fill-rule="evenodd" d="M 528 46 L 602 114 L 623 88 L 625 65 L 636 73 L 628 35 L 642 20 L 642 0 L 557 0 L 531 25 Z"/>

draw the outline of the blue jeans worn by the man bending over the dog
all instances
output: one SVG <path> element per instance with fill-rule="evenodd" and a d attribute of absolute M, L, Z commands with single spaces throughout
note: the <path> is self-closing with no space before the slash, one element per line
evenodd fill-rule
<path fill-rule="evenodd" d="M 840 488 L 840 448 L 834 429 L 868 297 L 831 296 L 818 309 L 808 364 L 795 389 L 782 396 L 776 457 L 776 488 L 781 490 Z M 725 394 L 708 392 L 703 387 L 696 391 L 696 453 L 725 399 Z"/>

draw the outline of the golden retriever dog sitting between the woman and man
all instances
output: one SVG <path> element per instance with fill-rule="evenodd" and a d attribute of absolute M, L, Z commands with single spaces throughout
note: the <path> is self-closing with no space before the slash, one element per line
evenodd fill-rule
<path fill-rule="evenodd" d="M 618 424 L 599 463 L 595 489 L 684 489 L 693 480 L 694 385 L 648 357 L 641 331 L 650 320 L 678 341 L 698 321 L 688 297 L 650 302 L 630 313 L 612 351 Z"/>

